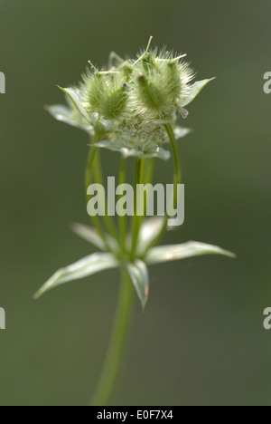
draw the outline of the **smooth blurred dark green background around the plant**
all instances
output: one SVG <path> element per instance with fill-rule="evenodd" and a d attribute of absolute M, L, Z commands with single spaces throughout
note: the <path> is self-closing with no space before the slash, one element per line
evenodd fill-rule
<path fill-rule="evenodd" d="M 56 84 L 88 60 L 154 43 L 217 76 L 189 107 L 182 140 L 186 221 L 165 242 L 199 240 L 238 254 L 151 270 L 145 314 L 135 304 L 115 405 L 270 405 L 271 71 L 269 0 L 0 0 L 0 405 L 85 405 L 98 380 L 118 272 L 32 300 L 60 266 L 92 252 L 70 232 L 88 223 L 87 136 L 52 120 Z M 105 156 L 108 175 L 117 153 Z M 132 162 L 131 162 L 132 165 Z M 166 180 L 172 163 L 157 162 Z"/>

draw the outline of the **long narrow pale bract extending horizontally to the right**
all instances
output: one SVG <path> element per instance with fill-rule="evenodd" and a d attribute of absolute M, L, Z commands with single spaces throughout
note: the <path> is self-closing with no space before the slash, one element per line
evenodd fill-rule
<path fill-rule="evenodd" d="M 154 265 L 201 255 L 225 255 L 232 258 L 236 257 L 236 255 L 218 246 L 206 245 L 200 242 L 189 242 L 182 245 L 154 247 L 146 255 L 145 262 L 148 265 Z"/>

